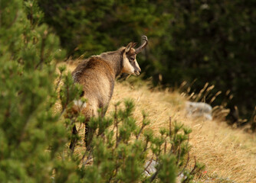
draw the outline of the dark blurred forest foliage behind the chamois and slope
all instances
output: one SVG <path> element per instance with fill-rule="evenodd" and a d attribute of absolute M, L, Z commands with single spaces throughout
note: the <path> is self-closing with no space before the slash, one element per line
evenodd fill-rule
<path fill-rule="evenodd" d="M 238 115 L 251 117 L 256 104 L 255 0 L 38 2 L 44 22 L 54 28 L 69 56 L 116 50 L 140 42 L 145 34 L 149 46 L 138 59 L 145 78 L 171 87 L 186 81 L 191 92 L 209 82 L 213 92 L 222 91 L 214 105 L 228 101 L 231 123 Z M 225 95 L 229 90 L 231 100 Z"/>

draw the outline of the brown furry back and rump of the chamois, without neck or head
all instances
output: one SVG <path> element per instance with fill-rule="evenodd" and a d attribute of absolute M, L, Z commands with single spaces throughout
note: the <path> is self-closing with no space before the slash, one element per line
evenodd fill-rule
<path fill-rule="evenodd" d="M 77 66 L 72 72 L 74 82 L 83 86 L 83 96 L 87 98 L 86 108 L 81 111 L 87 117 L 97 116 L 98 108 L 107 108 L 113 94 L 115 72 L 100 56 L 92 56 Z"/>

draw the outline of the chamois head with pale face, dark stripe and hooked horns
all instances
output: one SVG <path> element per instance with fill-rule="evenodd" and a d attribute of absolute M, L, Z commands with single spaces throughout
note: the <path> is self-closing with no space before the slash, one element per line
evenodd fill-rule
<path fill-rule="evenodd" d="M 141 52 L 147 45 L 148 39 L 146 36 L 142 37 L 142 41 L 144 43 L 141 44 L 140 47 L 134 48 L 136 43 L 129 43 L 123 52 L 123 69 L 122 72 L 132 75 L 139 75 L 141 69 L 139 68 L 139 64 L 136 61 L 136 54 Z"/>

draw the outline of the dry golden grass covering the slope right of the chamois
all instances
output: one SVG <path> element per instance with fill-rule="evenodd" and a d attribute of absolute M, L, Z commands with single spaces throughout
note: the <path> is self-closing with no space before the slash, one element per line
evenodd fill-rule
<path fill-rule="evenodd" d="M 68 66 L 68 69 L 72 70 L 74 67 Z M 113 111 L 113 104 L 123 101 L 124 98 L 132 98 L 135 101 L 134 117 L 138 123 L 142 120 L 141 111 L 146 111 L 151 120 L 149 127 L 156 133 L 161 127 L 169 127 L 169 116 L 172 120 L 192 128 L 191 157 L 196 156 L 206 167 L 198 181 L 231 182 L 227 181 L 229 179 L 241 183 L 256 182 L 255 135 L 231 129 L 224 121 L 185 117 L 183 107 L 186 98 L 179 92 L 150 92 L 146 85 L 133 87 L 126 82 L 116 83 L 107 115 Z M 81 150 L 82 148 L 77 148 L 76 152 Z"/>

